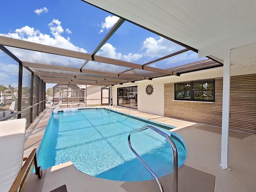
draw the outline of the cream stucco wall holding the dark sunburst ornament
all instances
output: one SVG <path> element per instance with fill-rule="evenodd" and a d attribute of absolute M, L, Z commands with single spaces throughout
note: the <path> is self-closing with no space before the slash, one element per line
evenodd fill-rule
<path fill-rule="evenodd" d="M 231 68 L 231 76 L 256 74 L 256 65 Z M 215 68 L 214 71 L 191 72 L 182 74 L 181 76 L 166 76 L 162 78 L 154 78 L 153 80 L 142 80 L 134 84 L 123 84 L 122 86 L 114 86 L 112 90 L 113 102 L 117 103 L 117 88 L 126 86 L 138 86 L 138 110 L 151 114 L 164 116 L 164 84 L 170 82 L 184 82 L 192 80 L 210 79 L 223 77 L 222 68 Z M 154 88 L 153 94 L 146 94 L 146 86 L 151 84 Z"/>

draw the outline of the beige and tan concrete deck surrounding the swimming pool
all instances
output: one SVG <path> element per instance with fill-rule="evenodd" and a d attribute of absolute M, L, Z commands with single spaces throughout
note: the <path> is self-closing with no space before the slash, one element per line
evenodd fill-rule
<path fill-rule="evenodd" d="M 175 126 L 172 131 L 186 143 L 187 159 L 179 168 L 179 191 L 182 192 L 255 192 L 256 135 L 230 131 L 229 166 L 222 170 L 220 163 L 221 128 L 186 122 L 126 108 L 116 110 L 133 116 Z M 26 131 L 24 157 L 39 147 L 52 109 L 46 109 Z M 165 192 L 172 192 L 172 174 L 160 178 Z M 111 181 L 84 174 L 72 162 L 43 171 L 43 178 L 31 174 L 25 192 L 50 192 L 66 185 L 68 192 L 153 192 L 159 191 L 154 180 L 144 182 Z"/>

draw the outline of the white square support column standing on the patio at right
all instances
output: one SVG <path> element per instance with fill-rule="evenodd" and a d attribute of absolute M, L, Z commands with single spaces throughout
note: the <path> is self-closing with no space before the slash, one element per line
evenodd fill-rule
<path fill-rule="evenodd" d="M 228 128 L 230 103 L 230 50 L 224 51 L 223 66 L 223 100 L 222 100 L 222 132 L 221 132 L 221 161 L 222 169 L 228 169 Z"/>

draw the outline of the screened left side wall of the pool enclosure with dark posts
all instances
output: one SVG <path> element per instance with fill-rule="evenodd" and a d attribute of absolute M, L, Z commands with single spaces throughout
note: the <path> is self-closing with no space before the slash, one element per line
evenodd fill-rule
<path fill-rule="evenodd" d="M 45 83 L 5 52 L 0 55 L 0 120 L 26 118 L 29 126 L 45 109 Z"/>

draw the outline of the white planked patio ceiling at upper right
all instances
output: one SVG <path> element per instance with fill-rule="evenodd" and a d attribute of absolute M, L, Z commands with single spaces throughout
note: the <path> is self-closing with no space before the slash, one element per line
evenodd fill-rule
<path fill-rule="evenodd" d="M 256 64 L 256 0 L 84 0 L 231 65 Z"/>

